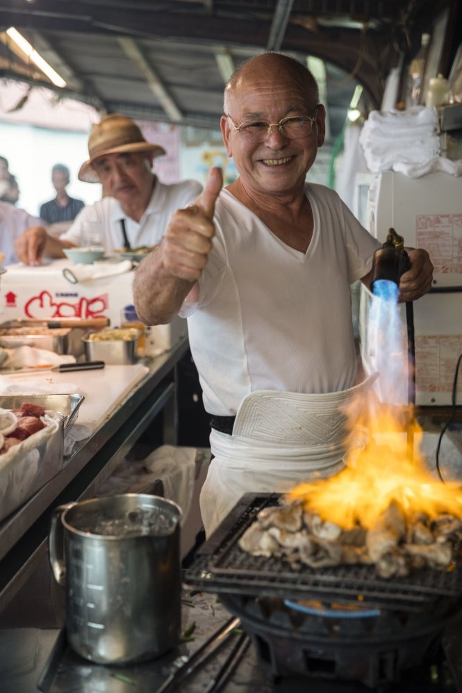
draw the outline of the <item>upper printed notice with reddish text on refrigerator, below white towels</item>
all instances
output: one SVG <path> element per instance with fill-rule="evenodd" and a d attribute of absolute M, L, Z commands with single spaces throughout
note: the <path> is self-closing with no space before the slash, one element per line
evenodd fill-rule
<path fill-rule="evenodd" d="M 429 252 L 435 273 L 462 273 L 462 213 L 418 214 L 415 239 Z"/>

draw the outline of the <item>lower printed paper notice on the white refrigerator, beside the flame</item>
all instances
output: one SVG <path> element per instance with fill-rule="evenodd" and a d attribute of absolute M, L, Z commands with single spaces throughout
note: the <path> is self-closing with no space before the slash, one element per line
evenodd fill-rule
<path fill-rule="evenodd" d="M 415 337 L 415 389 L 416 393 L 430 393 L 429 402 L 433 404 L 431 393 L 452 393 L 457 359 L 462 354 L 462 335 L 434 334 Z M 461 401 L 462 377 L 457 388 Z M 449 402 L 447 402 L 449 403 Z"/>

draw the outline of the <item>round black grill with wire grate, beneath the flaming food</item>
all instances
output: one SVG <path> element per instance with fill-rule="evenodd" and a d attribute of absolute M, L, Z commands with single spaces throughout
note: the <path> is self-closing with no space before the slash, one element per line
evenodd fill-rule
<path fill-rule="evenodd" d="M 240 617 L 273 678 L 304 674 L 376 688 L 440 651 L 445 629 L 462 617 L 461 566 L 383 580 L 374 566 L 294 571 L 283 558 L 245 553 L 238 539 L 279 497 L 242 496 L 184 575 Z"/>

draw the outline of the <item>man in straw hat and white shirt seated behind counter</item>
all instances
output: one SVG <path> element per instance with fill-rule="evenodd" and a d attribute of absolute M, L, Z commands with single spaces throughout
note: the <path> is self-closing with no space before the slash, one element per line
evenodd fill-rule
<path fill-rule="evenodd" d="M 174 211 L 194 201 L 202 189 L 192 180 L 161 183 L 152 164 L 165 149 L 147 142 L 125 115 L 108 115 L 92 127 L 88 154 L 79 179 L 101 183 L 106 196 L 86 206 L 59 238 L 44 227 L 27 229 L 16 242 L 20 261 L 34 265 L 44 256 L 63 257 L 63 248 L 80 245 L 103 245 L 106 251 L 152 247 Z"/>

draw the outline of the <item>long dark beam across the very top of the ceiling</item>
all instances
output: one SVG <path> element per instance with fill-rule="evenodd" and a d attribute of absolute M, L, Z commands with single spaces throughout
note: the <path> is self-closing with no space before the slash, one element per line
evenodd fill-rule
<path fill-rule="evenodd" d="M 234 16 L 220 17 L 213 15 L 194 15 L 189 13 L 128 13 L 114 8 L 110 13 L 107 8 L 94 4 L 92 16 L 88 16 L 89 7 L 75 0 L 63 3 L 56 0 L 43 0 L 40 13 L 28 6 L 28 13 L 17 10 L 5 10 L 0 6 L 0 26 L 17 26 L 20 28 L 43 29 L 44 31 L 65 31 L 80 33 L 101 33 L 104 35 L 130 35 L 131 38 L 157 38 L 159 41 L 174 39 L 186 44 L 204 46 L 217 42 L 233 47 L 248 47 L 250 51 L 264 50 L 270 34 L 270 21 L 261 17 L 249 17 L 245 22 Z M 66 14 L 65 9 L 72 9 Z M 82 10 L 81 15 L 76 11 Z M 53 14 L 51 10 L 55 13 Z M 308 15 L 307 15 L 308 16 Z M 153 19 L 155 18 L 155 21 Z M 148 21 L 149 19 L 149 21 Z M 357 30 L 347 28 L 318 27 L 310 31 L 297 15 L 290 19 L 281 44 L 283 51 L 298 51 L 338 65 L 347 73 L 355 72 L 356 79 L 363 84 L 370 95 L 372 106 L 379 108 L 383 95 L 383 86 L 390 67 L 396 67 L 399 54 L 391 40 L 389 28 L 382 27 L 377 31 L 367 31 L 361 44 Z M 297 21 L 297 23 L 295 23 Z M 358 59 L 361 45 L 361 58 Z M 386 54 L 386 64 L 381 56 Z"/>

